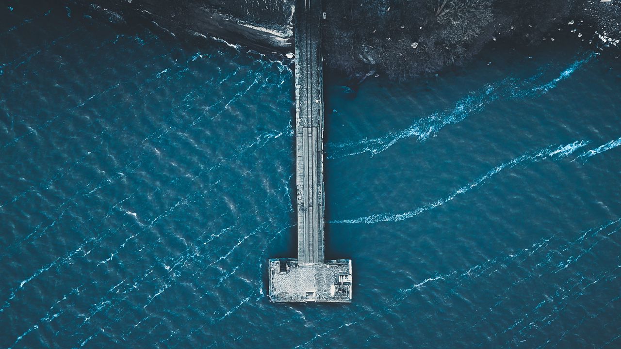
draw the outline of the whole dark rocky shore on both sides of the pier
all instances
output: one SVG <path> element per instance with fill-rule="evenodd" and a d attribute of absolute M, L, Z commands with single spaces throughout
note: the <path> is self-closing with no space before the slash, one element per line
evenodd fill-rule
<path fill-rule="evenodd" d="M 175 35 L 292 52 L 293 0 L 70 1 L 125 19 L 140 16 Z M 330 0 L 323 6 L 325 65 L 356 81 L 436 73 L 497 40 L 538 45 L 564 36 L 592 50 L 621 47 L 621 0 Z"/>

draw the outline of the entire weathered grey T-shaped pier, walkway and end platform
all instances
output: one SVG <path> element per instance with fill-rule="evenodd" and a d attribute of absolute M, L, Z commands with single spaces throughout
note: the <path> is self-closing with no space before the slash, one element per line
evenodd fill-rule
<path fill-rule="evenodd" d="M 324 94 L 320 0 L 294 13 L 297 259 L 269 261 L 273 302 L 351 302 L 351 260 L 324 260 Z"/>

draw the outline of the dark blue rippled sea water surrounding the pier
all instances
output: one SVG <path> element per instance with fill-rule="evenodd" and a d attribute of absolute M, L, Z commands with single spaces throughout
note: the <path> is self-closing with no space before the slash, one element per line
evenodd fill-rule
<path fill-rule="evenodd" d="M 353 302 L 271 304 L 291 63 L 119 20 L 0 7 L 0 347 L 621 347 L 614 53 L 328 79 L 327 257 L 353 260 Z"/>

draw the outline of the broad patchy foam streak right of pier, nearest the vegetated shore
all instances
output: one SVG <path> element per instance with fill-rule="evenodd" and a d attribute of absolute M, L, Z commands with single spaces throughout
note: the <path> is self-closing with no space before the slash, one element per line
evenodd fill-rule
<path fill-rule="evenodd" d="M 545 84 L 537 84 L 541 74 L 528 79 L 505 78 L 502 81 L 487 84 L 484 88 L 463 97 L 455 105 L 442 112 L 434 112 L 429 116 L 414 121 L 407 129 L 389 132 L 378 138 L 367 138 L 357 142 L 331 144 L 332 153 L 329 159 L 343 158 L 346 156 L 369 153 L 371 156 L 383 152 L 392 147 L 399 140 L 417 138 L 419 142 L 425 142 L 433 137 L 446 125 L 457 124 L 471 114 L 482 112 L 488 104 L 497 99 L 515 99 L 524 97 L 537 97 L 555 88 L 558 83 L 569 78 L 576 70 L 597 56 L 591 53 L 585 58 L 580 58 L 563 70 L 560 75 Z"/>

